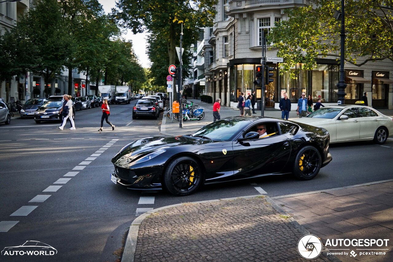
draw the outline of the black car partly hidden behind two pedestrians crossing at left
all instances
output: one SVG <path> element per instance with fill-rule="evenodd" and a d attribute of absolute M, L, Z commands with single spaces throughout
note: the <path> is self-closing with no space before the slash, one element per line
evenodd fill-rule
<path fill-rule="evenodd" d="M 39 124 L 42 121 L 63 121 L 59 114 L 63 101 L 48 100 L 34 113 L 34 121 Z M 72 119 L 75 119 L 75 107 L 72 106 Z"/>

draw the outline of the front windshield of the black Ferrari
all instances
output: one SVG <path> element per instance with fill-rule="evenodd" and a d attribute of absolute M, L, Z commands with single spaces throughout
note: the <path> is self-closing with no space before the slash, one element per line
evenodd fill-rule
<path fill-rule="evenodd" d="M 206 125 L 192 134 L 193 137 L 207 138 L 211 140 L 228 141 L 239 130 L 250 124 L 250 120 L 239 119 L 222 119 Z"/>

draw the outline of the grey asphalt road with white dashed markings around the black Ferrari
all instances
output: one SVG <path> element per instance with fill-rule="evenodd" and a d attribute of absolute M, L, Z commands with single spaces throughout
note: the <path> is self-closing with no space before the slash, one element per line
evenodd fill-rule
<path fill-rule="evenodd" d="M 97 131 L 98 108 L 77 111 L 75 131 L 61 131 L 59 123 L 35 124 L 31 119 L 0 125 L 0 221 L 18 221 L 8 232 L 0 232 L 0 250 L 35 240 L 57 249 L 56 261 L 112 262 L 118 259 L 113 253 L 123 246 L 122 236 L 131 221 L 146 210 L 262 190 L 273 197 L 391 179 L 393 140 L 389 139 L 383 146 L 371 142 L 331 145 L 333 161 L 311 181 L 262 177 L 205 186 L 185 197 L 129 190 L 110 181 L 110 159 L 133 140 L 160 135 L 160 119 L 132 120 L 134 103 L 110 107 L 115 131 L 106 123 L 103 132 Z M 2 226 L 0 222 L 0 231 Z M 1 258 L 53 260 L 53 256 Z"/>

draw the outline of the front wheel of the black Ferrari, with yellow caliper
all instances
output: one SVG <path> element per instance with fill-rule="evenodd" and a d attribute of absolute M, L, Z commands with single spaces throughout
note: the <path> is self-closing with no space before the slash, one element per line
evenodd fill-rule
<path fill-rule="evenodd" d="M 164 186 L 176 196 L 187 196 L 195 192 L 202 183 L 202 170 L 191 157 L 174 159 L 164 175 Z"/>

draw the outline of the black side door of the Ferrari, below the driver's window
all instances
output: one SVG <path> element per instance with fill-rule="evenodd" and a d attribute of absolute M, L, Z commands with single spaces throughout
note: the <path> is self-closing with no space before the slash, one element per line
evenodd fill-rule
<path fill-rule="evenodd" d="M 277 123 L 268 123 L 273 135 L 264 138 L 233 142 L 233 169 L 237 179 L 280 173 L 290 157 L 290 141 L 278 131 Z M 269 130 L 269 128 L 268 128 Z M 246 131 L 247 132 L 247 131 Z"/>

